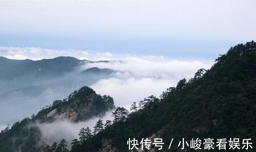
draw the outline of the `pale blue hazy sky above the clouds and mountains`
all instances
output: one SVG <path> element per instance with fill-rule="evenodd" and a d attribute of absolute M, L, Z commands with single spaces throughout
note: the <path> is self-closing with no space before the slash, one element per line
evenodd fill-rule
<path fill-rule="evenodd" d="M 255 0 L 0 2 L 0 46 L 214 59 L 256 38 Z"/>

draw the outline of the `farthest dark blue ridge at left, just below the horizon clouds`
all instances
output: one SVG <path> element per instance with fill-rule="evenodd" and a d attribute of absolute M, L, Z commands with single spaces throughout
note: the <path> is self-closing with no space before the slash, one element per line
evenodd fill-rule
<path fill-rule="evenodd" d="M 42 60 L 11 60 L 0 57 L 0 78 L 12 80 L 22 76 L 38 78 L 44 76 L 59 76 L 65 72 L 74 70 L 75 67 L 89 62 L 88 60 L 78 60 L 73 57 L 60 56 L 53 59 Z"/>

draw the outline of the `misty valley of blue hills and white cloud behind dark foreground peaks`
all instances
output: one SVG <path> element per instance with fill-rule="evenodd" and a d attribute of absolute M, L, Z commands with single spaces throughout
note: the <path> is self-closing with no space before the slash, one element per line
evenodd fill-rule
<path fill-rule="evenodd" d="M 17 54 L 21 50 L 2 48 L 0 52 Z M 150 95 L 160 96 L 163 90 L 174 86 L 181 78 L 190 78 L 201 67 L 210 68 L 209 64 L 199 61 L 165 61 L 154 57 L 105 59 L 108 60 L 93 62 L 64 56 L 43 60 L 0 57 L 1 129 L 36 114 L 82 86 L 90 86 L 99 94 L 108 94 L 114 98 L 116 106 L 129 108 L 134 101 Z"/>

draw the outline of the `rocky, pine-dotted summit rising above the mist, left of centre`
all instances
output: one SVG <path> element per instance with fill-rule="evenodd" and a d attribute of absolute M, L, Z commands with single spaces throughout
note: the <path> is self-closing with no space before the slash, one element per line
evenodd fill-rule
<path fill-rule="evenodd" d="M 41 122 L 69 120 L 78 122 L 92 116 L 103 116 L 106 111 L 114 108 L 113 98 L 100 96 L 89 87 L 82 87 L 72 92 L 64 100 L 56 100 L 52 105 L 38 112 L 35 119 Z"/>

